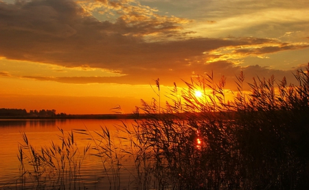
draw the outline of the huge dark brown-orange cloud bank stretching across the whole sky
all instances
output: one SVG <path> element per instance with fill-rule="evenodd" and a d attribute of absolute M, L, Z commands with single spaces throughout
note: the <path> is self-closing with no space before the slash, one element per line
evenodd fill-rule
<path fill-rule="evenodd" d="M 250 56 L 305 49 L 308 44 L 268 38 L 190 37 L 188 19 L 161 16 L 137 1 L 69 0 L 0 3 L 0 57 L 64 67 L 102 68 L 117 77 L 38 77 L 60 83 L 144 84 L 157 79 L 170 84 L 214 70 L 234 77 L 240 70 L 255 73 L 284 72 L 259 66 L 240 67 Z M 115 19 L 93 16 L 102 11 Z M 212 21 L 211 21 L 212 22 Z M 216 23 L 214 23 L 215 25 Z"/>

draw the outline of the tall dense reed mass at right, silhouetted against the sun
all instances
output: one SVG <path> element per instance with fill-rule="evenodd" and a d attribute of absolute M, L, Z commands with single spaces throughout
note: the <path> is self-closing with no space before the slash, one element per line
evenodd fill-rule
<path fill-rule="evenodd" d="M 244 94 L 241 72 L 226 103 L 225 77 L 216 84 L 211 73 L 185 82 L 181 96 L 175 84 L 165 108 L 142 101 L 148 117 L 135 135 L 148 189 L 308 189 L 308 74 L 297 70 L 295 85 L 253 79 Z"/>

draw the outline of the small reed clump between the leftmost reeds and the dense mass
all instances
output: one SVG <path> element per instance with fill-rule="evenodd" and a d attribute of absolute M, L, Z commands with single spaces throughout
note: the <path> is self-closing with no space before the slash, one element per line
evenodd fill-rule
<path fill-rule="evenodd" d="M 102 163 L 102 175 L 104 176 L 105 183 L 108 184 L 109 189 L 123 189 L 124 182 L 128 182 L 127 187 L 132 187 L 132 183 L 128 178 L 133 177 L 133 171 L 126 168 L 124 162 L 130 162 L 130 155 L 132 152 L 128 152 L 126 148 L 123 148 L 123 144 L 128 143 L 128 138 L 125 135 L 120 135 L 119 133 L 129 134 L 130 131 L 126 129 L 126 123 L 122 123 L 123 126 L 115 126 L 115 133 L 105 126 L 101 126 L 100 131 L 89 131 L 87 126 L 86 130 L 76 130 L 76 133 L 82 135 L 87 135 L 88 139 L 94 144 L 91 148 L 94 153 L 92 156 L 99 157 Z M 124 131 L 126 129 L 126 131 Z M 130 134 L 129 134 L 130 135 Z M 132 161 L 132 163 L 134 163 Z M 125 172 L 126 176 L 122 173 Z M 106 177 L 106 178 L 105 178 Z M 125 177 L 126 180 L 122 182 L 122 178 Z"/>

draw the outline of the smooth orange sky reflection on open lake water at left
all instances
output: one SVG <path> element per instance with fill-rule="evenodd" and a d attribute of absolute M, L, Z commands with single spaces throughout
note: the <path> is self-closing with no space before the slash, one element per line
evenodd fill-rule
<path fill-rule="evenodd" d="M 129 120 L 128 123 L 130 122 Z M 16 176 L 19 176 L 19 159 L 16 154 L 19 152 L 19 143 L 23 143 L 21 133 L 25 133 L 30 143 L 39 150 L 41 147 L 49 147 L 51 141 L 60 144 L 58 135 L 61 133 L 58 128 L 62 128 L 67 134 L 73 129 L 87 127 L 92 134 L 95 134 L 95 131 L 102 131 L 102 126 L 114 134 L 117 124 L 121 125 L 122 122 L 119 120 L 0 120 L 0 189 L 5 185 L 12 187 L 18 179 Z M 81 134 L 75 134 L 74 138 L 79 148 L 87 146 L 89 142 Z M 82 178 L 85 183 L 95 183 L 96 187 L 102 187 L 106 184 L 106 176 L 102 175 L 102 161 L 99 158 L 90 157 L 90 154 L 94 153 L 95 150 L 91 150 L 89 157 L 83 162 Z M 132 167 L 130 163 L 126 163 L 128 164 L 126 168 Z"/>

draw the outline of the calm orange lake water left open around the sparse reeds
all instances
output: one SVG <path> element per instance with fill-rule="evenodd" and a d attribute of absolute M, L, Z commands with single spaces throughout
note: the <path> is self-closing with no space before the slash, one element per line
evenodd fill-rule
<path fill-rule="evenodd" d="M 15 189 L 16 183 L 19 181 L 19 144 L 23 143 L 21 133 L 27 135 L 30 144 L 41 150 L 41 147 L 51 146 L 52 141 L 55 144 L 60 144 L 60 139 L 57 135 L 62 135 L 58 128 L 62 128 L 65 133 L 72 129 L 86 129 L 95 136 L 95 131 L 102 131 L 101 126 L 108 128 L 111 131 L 113 141 L 117 144 L 126 145 L 126 140 L 117 139 L 115 137 L 117 125 L 122 125 L 122 122 L 132 126 L 132 120 L 0 120 L 0 189 Z M 114 135 L 114 136 L 113 136 Z M 82 154 L 83 147 L 87 146 L 89 139 L 85 135 L 74 134 L 74 139 Z M 92 145 L 93 142 L 92 142 Z M 96 150 L 89 149 L 87 157 L 84 159 L 81 168 L 81 179 L 83 187 L 87 189 L 102 189 L 110 187 L 108 176 L 104 172 L 102 159 L 95 157 Z M 119 152 L 119 155 L 121 152 Z M 119 180 L 121 189 L 133 189 L 134 187 L 134 163 L 130 157 L 124 156 L 121 158 L 121 166 L 119 167 Z M 108 167 L 108 166 L 107 166 Z M 106 171 L 106 170 L 105 170 Z M 111 174 L 107 168 L 107 173 Z M 111 177 L 111 176 L 110 176 Z"/>

